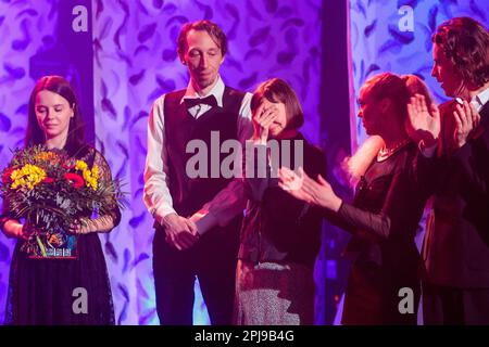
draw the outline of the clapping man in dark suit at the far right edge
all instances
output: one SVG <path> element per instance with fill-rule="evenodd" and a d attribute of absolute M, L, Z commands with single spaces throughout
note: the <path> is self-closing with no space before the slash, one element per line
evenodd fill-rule
<path fill-rule="evenodd" d="M 434 194 L 423 246 L 425 324 L 489 324 L 489 33 L 469 17 L 432 37 L 440 106 L 412 100 L 417 169 Z"/>

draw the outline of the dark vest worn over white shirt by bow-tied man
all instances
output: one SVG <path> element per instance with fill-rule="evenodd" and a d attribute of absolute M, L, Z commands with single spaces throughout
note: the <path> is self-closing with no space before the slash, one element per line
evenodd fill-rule
<path fill-rule="evenodd" d="M 168 188 L 173 207 L 178 215 L 190 217 L 231 181 L 231 178 L 225 179 L 221 175 L 221 163 L 229 154 L 218 154 L 218 177 L 211 178 L 212 152 L 221 152 L 220 149 L 211 147 L 211 132 L 218 131 L 220 147 L 226 140 L 238 140 L 239 108 L 244 93 L 225 87 L 223 107 L 212 107 L 197 119 L 189 114 L 185 103 L 181 102 L 184 95 L 185 89 L 165 95 L 165 143 L 168 153 Z M 191 140 L 203 141 L 206 145 L 206 178 L 190 178 L 187 175 L 187 160 L 197 154 L 197 152 L 186 153 L 187 144 Z"/>

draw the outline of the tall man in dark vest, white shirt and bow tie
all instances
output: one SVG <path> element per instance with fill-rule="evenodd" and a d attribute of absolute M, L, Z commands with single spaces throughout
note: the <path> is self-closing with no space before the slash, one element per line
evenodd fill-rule
<path fill-rule="evenodd" d="M 239 180 L 221 175 L 225 156 L 216 156 L 215 141 L 217 146 L 226 140 L 243 144 L 252 125 L 251 94 L 221 79 L 226 51 L 226 36 L 216 24 L 185 24 L 178 56 L 190 81 L 159 98 L 149 116 L 145 204 L 155 219 L 153 270 L 161 324 L 192 323 L 196 277 L 211 323 L 231 323 L 246 200 Z M 208 163 L 196 168 L 189 159 L 202 145 Z"/>

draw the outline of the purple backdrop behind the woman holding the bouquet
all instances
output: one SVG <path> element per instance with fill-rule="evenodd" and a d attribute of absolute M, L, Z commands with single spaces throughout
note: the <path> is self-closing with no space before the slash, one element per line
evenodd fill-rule
<path fill-rule="evenodd" d="M 45 75 L 71 81 L 95 142 L 92 47 L 90 0 L 0 2 L 0 170 L 23 145 L 29 93 Z M 0 322 L 13 246 L 0 236 Z"/>

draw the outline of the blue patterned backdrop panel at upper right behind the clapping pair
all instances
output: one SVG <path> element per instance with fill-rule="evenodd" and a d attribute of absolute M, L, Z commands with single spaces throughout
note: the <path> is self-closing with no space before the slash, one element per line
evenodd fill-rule
<path fill-rule="evenodd" d="M 369 76 L 393 72 L 418 75 L 435 99 L 444 101 L 443 91 L 431 77 L 431 35 L 438 25 L 455 16 L 471 16 L 489 25 L 486 0 L 352 0 L 350 9 L 355 100 Z M 365 132 L 359 119 L 355 124 L 360 144 Z"/>

